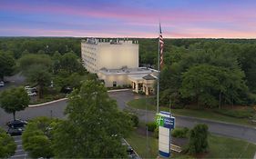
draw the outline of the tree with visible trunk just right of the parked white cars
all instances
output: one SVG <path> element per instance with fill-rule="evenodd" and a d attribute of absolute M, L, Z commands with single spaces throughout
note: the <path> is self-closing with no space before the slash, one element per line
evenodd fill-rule
<path fill-rule="evenodd" d="M 34 65 L 26 73 L 27 80 L 38 85 L 39 98 L 43 95 L 44 87 L 50 85 L 51 75 L 47 72 L 46 66 Z"/>

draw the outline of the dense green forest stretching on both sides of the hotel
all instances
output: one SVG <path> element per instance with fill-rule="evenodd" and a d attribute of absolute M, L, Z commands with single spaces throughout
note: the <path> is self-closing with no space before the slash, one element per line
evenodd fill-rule
<path fill-rule="evenodd" d="M 1 37 L 0 54 L 10 55 L 15 61 L 31 54 L 47 55 L 54 60 L 56 56 L 68 53 L 79 59 L 81 39 Z M 136 40 L 140 66 L 157 68 L 158 38 Z M 161 104 L 167 105 L 172 101 L 174 105 L 220 108 L 222 105 L 256 103 L 256 40 L 164 39 L 164 43 L 164 67 L 160 73 Z M 58 67 L 59 72 L 61 66 Z"/>

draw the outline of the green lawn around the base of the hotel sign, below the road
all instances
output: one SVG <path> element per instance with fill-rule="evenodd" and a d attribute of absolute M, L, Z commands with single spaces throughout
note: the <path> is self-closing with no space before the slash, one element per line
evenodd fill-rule
<path fill-rule="evenodd" d="M 128 143 L 142 158 L 156 158 L 158 155 L 158 139 L 148 137 L 148 154 L 146 152 L 147 140 L 145 135 L 134 131 L 128 138 Z M 203 158 L 253 158 L 256 144 L 217 135 L 209 136 L 210 151 Z M 174 158 L 193 158 L 187 154 L 172 154 Z"/>

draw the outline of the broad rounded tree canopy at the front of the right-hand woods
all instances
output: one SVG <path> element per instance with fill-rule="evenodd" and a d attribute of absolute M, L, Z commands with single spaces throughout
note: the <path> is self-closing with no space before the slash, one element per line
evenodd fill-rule
<path fill-rule="evenodd" d="M 239 92 L 247 91 L 243 77 L 240 70 L 213 65 L 192 66 L 182 75 L 180 93 L 183 97 L 195 98 L 198 104 L 216 106 L 221 94 L 226 99 L 237 99 Z"/>

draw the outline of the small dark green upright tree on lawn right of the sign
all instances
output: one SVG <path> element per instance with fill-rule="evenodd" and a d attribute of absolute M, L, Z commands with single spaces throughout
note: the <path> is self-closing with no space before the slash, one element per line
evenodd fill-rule
<path fill-rule="evenodd" d="M 189 154 L 205 153 L 209 149 L 208 126 L 207 124 L 197 124 L 189 132 Z"/>

